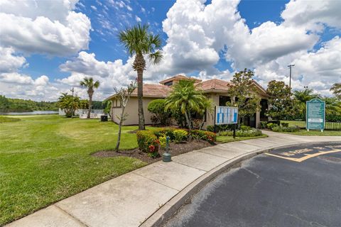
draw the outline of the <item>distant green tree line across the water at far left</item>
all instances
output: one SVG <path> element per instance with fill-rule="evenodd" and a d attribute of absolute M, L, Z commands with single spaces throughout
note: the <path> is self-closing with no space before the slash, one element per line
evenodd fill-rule
<path fill-rule="evenodd" d="M 57 101 L 33 101 L 25 99 L 10 99 L 0 95 L 1 112 L 26 111 L 57 111 Z"/>

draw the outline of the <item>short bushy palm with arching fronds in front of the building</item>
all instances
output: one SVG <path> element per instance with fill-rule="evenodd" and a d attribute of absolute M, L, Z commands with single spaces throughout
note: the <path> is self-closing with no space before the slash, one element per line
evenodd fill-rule
<path fill-rule="evenodd" d="M 195 89 L 194 82 L 190 80 L 180 80 L 174 85 L 173 91 L 166 98 L 166 110 L 180 110 L 185 114 L 188 129 L 191 130 L 190 113 L 195 111 L 202 114 L 204 108 L 208 107 L 207 101 L 202 92 Z"/>

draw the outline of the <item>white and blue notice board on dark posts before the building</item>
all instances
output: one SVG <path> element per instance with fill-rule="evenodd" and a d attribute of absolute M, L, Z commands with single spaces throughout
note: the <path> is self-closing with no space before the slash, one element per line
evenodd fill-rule
<path fill-rule="evenodd" d="M 238 107 L 215 106 L 215 124 L 238 123 Z"/>

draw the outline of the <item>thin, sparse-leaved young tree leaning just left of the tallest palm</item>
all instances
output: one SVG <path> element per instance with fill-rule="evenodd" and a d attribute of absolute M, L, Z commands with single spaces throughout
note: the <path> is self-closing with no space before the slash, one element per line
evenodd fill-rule
<path fill-rule="evenodd" d="M 136 89 L 136 82 L 131 82 L 126 88 L 121 87 L 121 89 L 117 89 L 117 87 L 114 87 L 115 93 L 117 94 L 117 97 L 121 102 L 121 116 L 117 116 L 117 118 L 119 118 L 119 135 L 117 136 L 117 143 L 115 148 L 116 152 L 119 152 L 119 143 L 121 142 L 121 128 L 124 121 L 126 121 L 126 117 L 128 116 L 128 114 L 124 114 L 124 110 L 126 109 L 126 104 L 128 104 L 129 98 L 134 92 L 134 89 Z"/>

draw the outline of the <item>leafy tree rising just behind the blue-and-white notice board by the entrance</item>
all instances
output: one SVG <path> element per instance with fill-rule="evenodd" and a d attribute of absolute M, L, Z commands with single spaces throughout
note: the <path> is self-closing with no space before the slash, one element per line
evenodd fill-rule
<path fill-rule="evenodd" d="M 256 88 L 254 87 L 254 72 L 251 70 L 243 70 L 236 72 L 231 80 L 231 85 L 228 91 L 232 97 L 231 102 L 227 102 L 228 106 L 238 107 L 238 125 L 242 118 L 251 116 L 261 109 L 261 99 L 256 96 Z M 233 99 L 234 98 L 234 99 Z"/>

